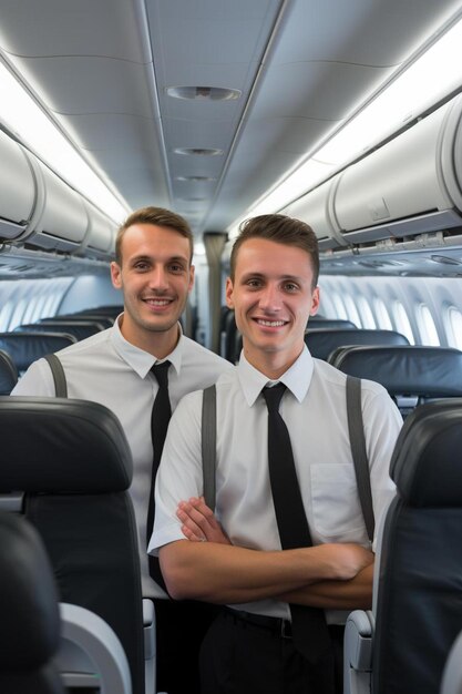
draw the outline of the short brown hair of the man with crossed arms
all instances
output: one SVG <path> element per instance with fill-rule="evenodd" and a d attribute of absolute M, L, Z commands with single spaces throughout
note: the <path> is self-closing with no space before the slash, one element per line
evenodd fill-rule
<path fill-rule="evenodd" d="M 233 282 L 237 254 L 243 243 L 249 238 L 266 238 L 306 251 L 311 258 L 312 288 L 316 287 L 319 277 L 319 247 L 316 234 L 308 224 L 284 214 L 263 214 L 243 222 L 230 254 L 230 278 Z"/>

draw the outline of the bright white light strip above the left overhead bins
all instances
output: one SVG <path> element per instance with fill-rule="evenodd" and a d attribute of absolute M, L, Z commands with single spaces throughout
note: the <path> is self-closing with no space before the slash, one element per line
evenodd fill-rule
<path fill-rule="evenodd" d="M 1 58 L 1 57 L 0 57 Z M 0 59 L 0 121 L 71 187 L 93 202 L 116 224 L 130 211 L 53 124 Z"/>

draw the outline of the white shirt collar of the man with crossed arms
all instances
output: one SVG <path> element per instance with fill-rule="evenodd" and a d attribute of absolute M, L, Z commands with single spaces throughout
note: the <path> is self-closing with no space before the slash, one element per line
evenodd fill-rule
<path fill-rule="evenodd" d="M 240 354 L 237 369 L 244 397 L 247 400 L 248 406 L 251 407 L 263 388 L 265 388 L 270 379 L 247 361 L 244 356 L 244 351 Z M 290 390 L 290 392 L 292 392 L 297 400 L 301 402 L 308 392 L 312 370 L 312 357 L 305 345 L 298 359 L 289 369 L 287 369 L 285 374 L 283 374 L 280 378 L 278 378 L 278 381 L 283 382 Z"/>

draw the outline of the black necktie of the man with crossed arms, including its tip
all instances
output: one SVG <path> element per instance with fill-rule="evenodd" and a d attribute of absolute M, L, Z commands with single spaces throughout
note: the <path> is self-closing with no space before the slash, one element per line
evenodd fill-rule
<path fill-rule="evenodd" d="M 311 534 L 301 500 L 289 432 L 279 415 L 284 384 L 264 388 L 268 408 L 268 466 L 273 501 L 283 550 L 311 547 Z M 322 610 L 290 604 L 294 645 L 311 663 L 329 649 L 330 640 Z"/>

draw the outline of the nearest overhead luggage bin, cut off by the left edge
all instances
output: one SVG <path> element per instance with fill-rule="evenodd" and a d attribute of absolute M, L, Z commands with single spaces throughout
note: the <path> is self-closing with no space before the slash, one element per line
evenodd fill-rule
<path fill-rule="evenodd" d="M 24 149 L 0 131 L 0 239 L 28 228 L 35 202 L 35 178 Z"/>

